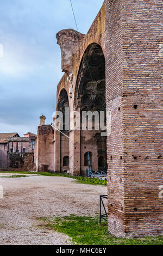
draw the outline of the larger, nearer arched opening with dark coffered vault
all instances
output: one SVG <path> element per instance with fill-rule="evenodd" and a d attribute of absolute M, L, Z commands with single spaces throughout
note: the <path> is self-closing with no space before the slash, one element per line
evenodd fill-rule
<path fill-rule="evenodd" d="M 80 63 L 74 107 L 80 112 L 80 174 L 85 174 L 86 149 L 93 156 L 92 170 L 98 170 L 98 158 L 101 155 L 105 161 L 107 159 L 106 136 L 102 136 L 104 133 L 99 123 L 100 112 L 103 112 L 103 126 L 106 126 L 105 57 L 102 47 L 96 43 L 86 48 Z M 89 117 L 86 114 L 88 112 Z M 107 164 L 104 169 L 107 170 Z"/>

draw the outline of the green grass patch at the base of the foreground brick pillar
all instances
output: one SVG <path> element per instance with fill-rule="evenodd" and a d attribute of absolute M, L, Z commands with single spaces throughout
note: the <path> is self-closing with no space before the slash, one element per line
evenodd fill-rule
<path fill-rule="evenodd" d="M 53 229 L 72 238 L 76 245 L 163 245 L 163 237 L 143 237 L 140 239 L 117 238 L 108 233 L 106 222 L 99 224 L 99 217 L 65 217 L 39 218 L 45 222 L 43 228 Z"/>

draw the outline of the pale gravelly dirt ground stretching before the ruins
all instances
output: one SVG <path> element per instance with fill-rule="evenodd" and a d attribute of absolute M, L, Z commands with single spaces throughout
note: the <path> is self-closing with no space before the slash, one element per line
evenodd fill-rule
<path fill-rule="evenodd" d="M 0 174 L 0 245 L 71 244 L 65 235 L 38 228 L 37 218 L 95 215 L 99 212 L 99 195 L 107 194 L 104 186 L 79 184 L 65 177 L 1 176 L 4 174 Z"/>

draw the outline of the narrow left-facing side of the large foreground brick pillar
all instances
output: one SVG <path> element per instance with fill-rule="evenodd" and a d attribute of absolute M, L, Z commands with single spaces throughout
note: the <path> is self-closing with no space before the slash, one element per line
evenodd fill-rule
<path fill-rule="evenodd" d="M 107 138 L 108 156 L 108 228 L 124 235 L 124 173 L 122 123 L 122 3 L 105 1 L 106 9 L 106 110 L 111 111 L 111 133 Z"/>

